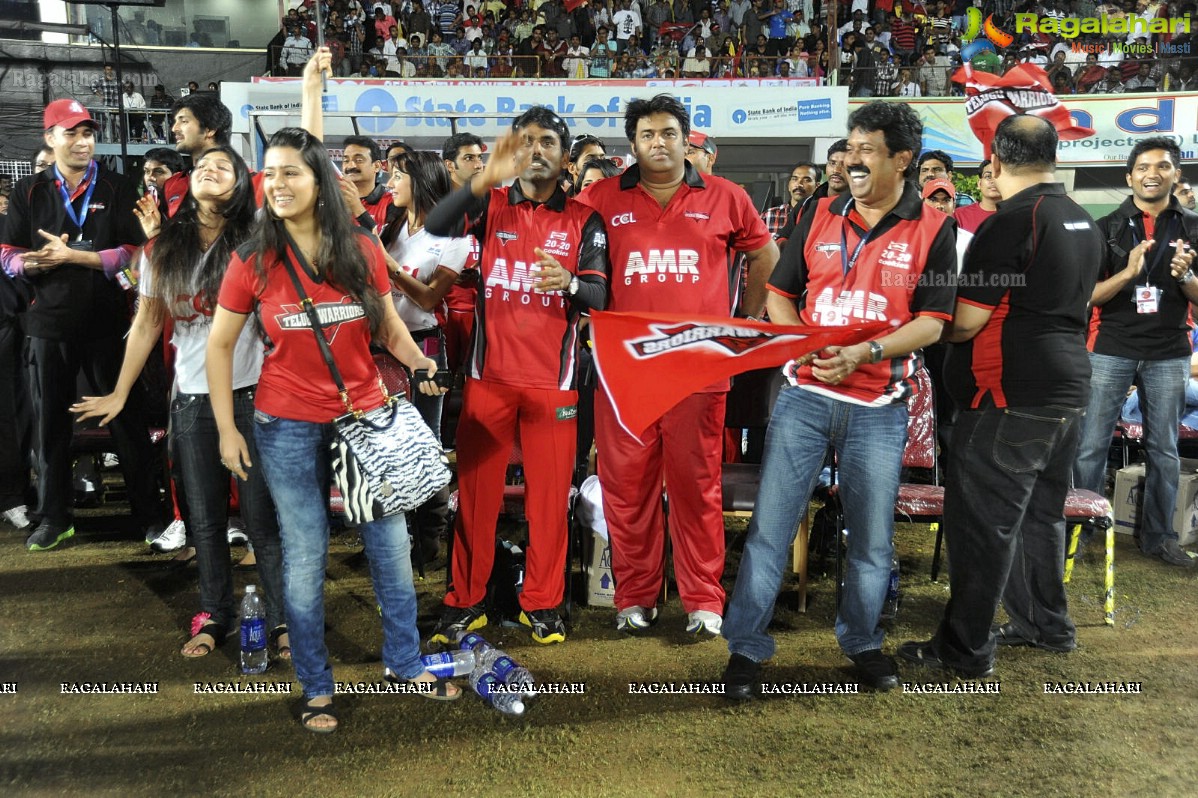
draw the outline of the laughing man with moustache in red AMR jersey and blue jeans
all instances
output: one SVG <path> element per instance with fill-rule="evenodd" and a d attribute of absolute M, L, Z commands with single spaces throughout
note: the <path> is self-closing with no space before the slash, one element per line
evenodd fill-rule
<path fill-rule="evenodd" d="M 836 451 L 848 555 L 836 637 L 859 681 L 898 684 L 882 652 L 882 605 L 894 556 L 894 506 L 907 441 L 907 398 L 920 347 L 952 316 L 952 220 L 907 182 L 922 125 L 909 105 L 871 102 L 848 117 L 849 192 L 809 204 L 769 279 L 769 318 L 837 327 L 889 321 L 890 332 L 791 361 L 766 433 L 761 489 L 724 636 L 725 694 L 754 699 L 774 655 L 767 627 L 828 447 Z M 895 279 L 895 278 L 901 279 Z M 797 303 L 798 307 L 797 307 Z"/>

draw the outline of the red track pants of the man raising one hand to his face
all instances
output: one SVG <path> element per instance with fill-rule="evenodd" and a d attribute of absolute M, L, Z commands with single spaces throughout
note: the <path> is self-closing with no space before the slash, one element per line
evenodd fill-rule
<path fill-rule="evenodd" d="M 458 423 L 458 491 L 453 591 L 449 606 L 486 598 L 495 563 L 495 525 L 503 504 L 503 477 L 516 440 L 524 451 L 528 550 L 520 606 L 546 610 L 565 591 L 565 536 L 577 437 L 575 391 L 551 391 L 466 380 Z M 518 439 L 519 436 L 519 439 Z"/>

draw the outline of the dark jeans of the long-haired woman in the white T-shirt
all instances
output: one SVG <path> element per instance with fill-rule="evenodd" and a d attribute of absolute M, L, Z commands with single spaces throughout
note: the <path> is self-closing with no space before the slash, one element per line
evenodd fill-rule
<path fill-rule="evenodd" d="M 250 463 L 258 464 L 254 448 L 254 389 L 234 391 L 234 421 L 249 447 Z M 206 393 L 181 393 L 170 404 L 171 449 L 175 467 L 187 496 L 187 531 L 195 546 L 200 575 L 200 610 L 212 621 L 232 629 L 237 605 L 232 594 L 232 564 L 229 562 L 229 470 L 220 465 L 220 434 Z M 274 504 L 260 467 L 252 467 L 248 480 L 237 480 L 241 516 L 254 544 L 258 579 L 266 603 L 266 624 L 283 623 L 283 546 Z"/>

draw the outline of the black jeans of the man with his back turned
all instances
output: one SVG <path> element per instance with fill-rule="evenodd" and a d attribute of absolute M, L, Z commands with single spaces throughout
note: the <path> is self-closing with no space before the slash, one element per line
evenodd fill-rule
<path fill-rule="evenodd" d="M 1083 415 L 1073 407 L 957 415 L 944 496 L 951 593 L 934 641 L 946 665 L 993 663 L 999 599 L 1029 640 L 1072 646 L 1064 508 Z"/>

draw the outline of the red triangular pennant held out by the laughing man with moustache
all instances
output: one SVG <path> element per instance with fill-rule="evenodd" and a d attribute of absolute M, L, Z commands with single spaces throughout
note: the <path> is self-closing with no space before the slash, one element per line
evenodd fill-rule
<path fill-rule="evenodd" d="M 640 437 L 679 401 L 733 374 L 781 365 L 827 346 L 848 346 L 890 330 L 781 326 L 673 313 L 595 313 L 591 341 L 603 389 L 629 435 Z"/>

